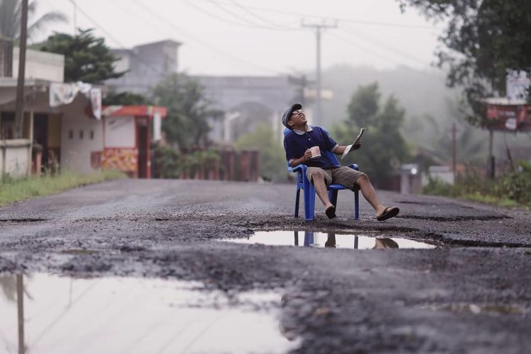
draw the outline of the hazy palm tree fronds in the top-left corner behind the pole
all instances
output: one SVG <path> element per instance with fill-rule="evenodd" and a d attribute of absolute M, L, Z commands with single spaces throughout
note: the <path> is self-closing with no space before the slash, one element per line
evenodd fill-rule
<path fill-rule="evenodd" d="M 21 0 L 0 0 L 0 38 L 17 40 L 21 32 Z M 28 17 L 33 18 L 37 10 L 37 0 L 28 5 Z M 67 22 L 67 16 L 59 11 L 47 12 L 28 25 L 28 38 L 35 31 L 52 22 Z"/>

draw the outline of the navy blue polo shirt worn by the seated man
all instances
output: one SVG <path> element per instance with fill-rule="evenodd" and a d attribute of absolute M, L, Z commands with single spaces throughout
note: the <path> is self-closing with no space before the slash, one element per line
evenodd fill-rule
<path fill-rule="evenodd" d="M 286 160 L 292 161 L 304 156 L 304 152 L 310 147 L 318 146 L 321 150 L 319 159 L 310 159 L 305 164 L 311 167 L 321 167 L 329 169 L 339 167 L 340 165 L 331 161 L 326 152 L 333 152 L 337 149 L 338 143 L 332 139 L 328 132 L 317 125 L 309 125 L 307 131 L 290 130 L 284 135 L 284 149 L 286 151 Z"/>

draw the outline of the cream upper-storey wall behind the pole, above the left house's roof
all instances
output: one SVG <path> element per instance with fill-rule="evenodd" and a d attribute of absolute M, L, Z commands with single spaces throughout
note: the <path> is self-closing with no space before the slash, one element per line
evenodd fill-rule
<path fill-rule="evenodd" d="M 13 48 L 13 77 L 18 77 L 18 52 Z M 25 78 L 42 79 L 56 82 L 64 80 L 64 55 L 26 50 L 25 53 Z"/>

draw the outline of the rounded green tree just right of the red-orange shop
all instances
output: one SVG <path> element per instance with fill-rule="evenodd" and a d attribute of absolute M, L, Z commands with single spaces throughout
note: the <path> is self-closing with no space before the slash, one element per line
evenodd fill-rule
<path fill-rule="evenodd" d="M 210 108 L 197 81 L 173 74 L 155 87 L 153 97 L 154 103 L 168 108 L 162 129 L 169 142 L 183 150 L 208 146 L 208 119 L 220 113 Z"/>

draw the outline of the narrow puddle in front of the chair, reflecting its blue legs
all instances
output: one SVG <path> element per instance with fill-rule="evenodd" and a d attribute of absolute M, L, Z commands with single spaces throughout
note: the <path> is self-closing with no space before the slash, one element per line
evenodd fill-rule
<path fill-rule="evenodd" d="M 240 244 L 335 247 L 337 249 L 435 249 L 436 247 L 432 244 L 396 237 L 370 237 L 309 231 L 261 231 L 255 232 L 248 239 L 224 239 L 222 241 Z"/>

